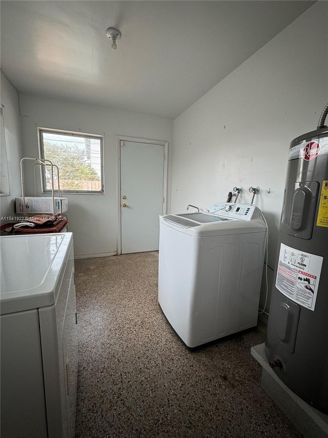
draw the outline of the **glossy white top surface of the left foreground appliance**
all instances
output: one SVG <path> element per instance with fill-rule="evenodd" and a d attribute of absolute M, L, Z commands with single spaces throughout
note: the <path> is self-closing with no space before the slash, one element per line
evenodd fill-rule
<path fill-rule="evenodd" d="M 52 306 L 72 233 L 4 236 L 0 239 L 1 314 Z"/>

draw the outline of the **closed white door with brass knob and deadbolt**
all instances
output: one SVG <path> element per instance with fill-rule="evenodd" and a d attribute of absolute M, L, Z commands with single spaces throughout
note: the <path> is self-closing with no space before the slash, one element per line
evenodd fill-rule
<path fill-rule="evenodd" d="M 157 251 L 165 146 L 120 141 L 121 253 Z"/>

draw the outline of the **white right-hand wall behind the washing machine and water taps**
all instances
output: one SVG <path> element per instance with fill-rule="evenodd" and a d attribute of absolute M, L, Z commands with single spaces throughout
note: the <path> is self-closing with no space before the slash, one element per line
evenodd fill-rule
<path fill-rule="evenodd" d="M 259 186 L 271 268 L 289 144 L 316 129 L 327 101 L 327 9 L 316 3 L 174 121 L 171 212 L 223 201 L 234 186 L 251 202 Z M 272 280 L 269 269 L 269 293 Z"/>

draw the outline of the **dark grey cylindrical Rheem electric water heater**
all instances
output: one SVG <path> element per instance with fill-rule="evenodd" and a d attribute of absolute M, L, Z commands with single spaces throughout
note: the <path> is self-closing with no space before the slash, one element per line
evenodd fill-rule
<path fill-rule="evenodd" d="M 293 392 L 328 413 L 328 104 L 291 143 L 265 354 Z"/>

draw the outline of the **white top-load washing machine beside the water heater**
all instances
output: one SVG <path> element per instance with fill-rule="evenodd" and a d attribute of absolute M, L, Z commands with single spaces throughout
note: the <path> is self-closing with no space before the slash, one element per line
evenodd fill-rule
<path fill-rule="evenodd" d="M 249 204 L 160 217 L 158 302 L 188 347 L 257 325 L 266 234 Z"/>

